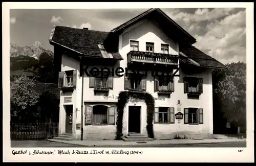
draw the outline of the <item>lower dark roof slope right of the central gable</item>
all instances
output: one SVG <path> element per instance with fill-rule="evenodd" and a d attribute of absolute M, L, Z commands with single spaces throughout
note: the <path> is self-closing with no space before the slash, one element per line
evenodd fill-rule
<path fill-rule="evenodd" d="M 195 62 L 200 64 L 201 67 L 205 68 L 215 68 L 215 69 L 227 69 L 227 66 L 219 62 L 218 60 L 208 56 L 203 53 L 199 49 L 195 48 L 195 46 L 187 45 L 180 46 L 180 52 L 185 54 L 188 58 L 193 59 Z M 192 64 L 186 58 L 180 57 L 180 62 L 184 64 Z"/>

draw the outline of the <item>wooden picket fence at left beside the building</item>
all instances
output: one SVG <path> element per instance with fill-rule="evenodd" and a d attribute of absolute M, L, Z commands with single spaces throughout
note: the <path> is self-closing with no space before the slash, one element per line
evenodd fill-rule
<path fill-rule="evenodd" d="M 46 139 L 58 136 L 59 123 L 11 123 L 11 139 Z"/>

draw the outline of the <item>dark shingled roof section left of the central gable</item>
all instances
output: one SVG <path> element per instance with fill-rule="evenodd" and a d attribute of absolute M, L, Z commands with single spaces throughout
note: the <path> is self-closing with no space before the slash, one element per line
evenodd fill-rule
<path fill-rule="evenodd" d="M 100 49 L 99 44 L 103 43 L 108 34 L 109 32 L 54 26 L 49 41 L 50 44 L 59 44 L 84 57 L 122 60 L 118 52 L 108 52 L 106 56 L 102 55 L 102 51 L 105 50 Z"/>

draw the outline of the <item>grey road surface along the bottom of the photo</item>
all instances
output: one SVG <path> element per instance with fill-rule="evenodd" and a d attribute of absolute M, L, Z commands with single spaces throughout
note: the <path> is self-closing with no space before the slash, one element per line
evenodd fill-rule
<path fill-rule="evenodd" d="M 52 148 L 52 147 L 58 147 L 58 148 L 69 148 L 69 147 L 83 147 L 79 145 L 70 145 L 70 144 L 64 144 L 64 143 L 56 143 L 52 141 L 47 140 L 12 140 L 11 141 L 11 147 L 12 148 Z M 120 146 L 116 146 L 116 148 L 120 148 Z M 126 146 L 125 146 L 126 147 Z M 138 144 L 138 145 L 131 145 L 129 148 L 246 148 L 246 142 L 233 142 L 233 143 L 218 143 L 218 144 L 193 144 L 193 145 L 150 145 L 150 143 L 147 144 Z M 104 148 L 104 147 L 102 147 Z M 110 147 L 108 147 L 110 148 Z M 115 148 L 112 146 L 112 148 Z M 127 147 L 128 148 L 128 147 Z"/>

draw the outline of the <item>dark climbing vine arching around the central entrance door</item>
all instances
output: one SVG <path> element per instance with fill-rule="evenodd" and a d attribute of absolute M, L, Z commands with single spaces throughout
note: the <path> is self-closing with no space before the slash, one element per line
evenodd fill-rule
<path fill-rule="evenodd" d="M 117 127 L 116 127 L 116 139 L 120 140 L 122 137 L 123 128 L 123 109 L 130 98 L 144 100 L 146 103 L 146 130 L 147 135 L 150 138 L 154 138 L 153 131 L 153 116 L 155 111 L 155 100 L 150 93 L 140 92 L 134 93 L 131 91 L 121 91 L 118 96 L 117 102 Z"/>

